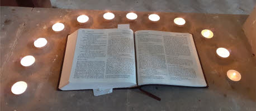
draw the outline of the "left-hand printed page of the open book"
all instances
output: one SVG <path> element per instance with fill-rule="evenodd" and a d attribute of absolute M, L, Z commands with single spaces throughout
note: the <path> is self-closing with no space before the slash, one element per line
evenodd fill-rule
<path fill-rule="evenodd" d="M 79 29 L 69 82 L 86 89 L 136 85 L 132 30 Z"/>

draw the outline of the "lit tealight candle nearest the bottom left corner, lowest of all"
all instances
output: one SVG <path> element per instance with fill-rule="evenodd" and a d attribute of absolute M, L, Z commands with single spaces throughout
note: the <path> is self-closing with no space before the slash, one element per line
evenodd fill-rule
<path fill-rule="evenodd" d="M 20 81 L 12 85 L 11 91 L 13 94 L 22 94 L 26 91 L 26 89 L 27 83 Z"/>

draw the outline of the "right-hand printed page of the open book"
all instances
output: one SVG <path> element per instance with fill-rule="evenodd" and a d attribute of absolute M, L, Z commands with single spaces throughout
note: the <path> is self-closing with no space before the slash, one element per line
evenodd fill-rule
<path fill-rule="evenodd" d="M 138 85 L 206 87 L 191 34 L 137 31 L 135 47 Z"/>

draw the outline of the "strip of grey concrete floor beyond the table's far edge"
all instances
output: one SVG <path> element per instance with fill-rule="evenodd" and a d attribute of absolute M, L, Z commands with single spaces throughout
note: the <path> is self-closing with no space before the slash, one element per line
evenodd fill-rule
<path fill-rule="evenodd" d="M 56 8 L 250 14 L 256 0 L 51 0 Z"/>

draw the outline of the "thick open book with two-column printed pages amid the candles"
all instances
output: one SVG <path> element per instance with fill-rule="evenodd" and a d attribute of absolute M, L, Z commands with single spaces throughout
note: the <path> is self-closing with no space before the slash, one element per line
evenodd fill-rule
<path fill-rule="evenodd" d="M 59 89 L 146 84 L 207 86 L 191 34 L 79 29 L 68 36 Z"/>

